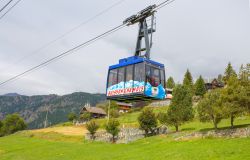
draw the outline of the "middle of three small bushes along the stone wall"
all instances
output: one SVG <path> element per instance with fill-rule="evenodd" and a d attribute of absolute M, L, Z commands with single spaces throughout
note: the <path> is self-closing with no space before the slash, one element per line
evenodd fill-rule
<path fill-rule="evenodd" d="M 120 123 L 118 120 L 110 119 L 108 121 L 107 125 L 105 126 L 106 131 L 112 135 L 112 142 L 113 143 L 115 143 L 115 137 L 120 132 L 119 125 L 120 125 Z"/>

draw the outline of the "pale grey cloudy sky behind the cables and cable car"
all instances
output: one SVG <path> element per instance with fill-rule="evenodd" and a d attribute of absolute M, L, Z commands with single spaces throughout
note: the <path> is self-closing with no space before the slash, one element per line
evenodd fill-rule
<path fill-rule="evenodd" d="M 0 8 L 9 0 L 1 0 Z M 17 0 L 14 0 L 17 1 Z M 50 44 L 120 0 L 22 0 L 0 19 L 0 82 L 85 42 L 163 0 L 123 0 L 77 30 Z M 0 16 L 3 14 L 0 13 Z M 175 0 L 156 13 L 151 58 L 165 64 L 166 77 L 182 82 L 223 74 L 228 62 L 238 72 L 250 62 L 249 0 Z M 138 25 L 125 27 L 71 55 L 0 86 L 0 95 L 105 93 L 108 66 L 133 56 Z"/>

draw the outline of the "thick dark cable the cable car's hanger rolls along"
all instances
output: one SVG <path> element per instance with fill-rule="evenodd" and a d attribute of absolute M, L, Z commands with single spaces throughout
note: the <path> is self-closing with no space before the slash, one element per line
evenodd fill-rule
<path fill-rule="evenodd" d="M 162 2 L 162 3 L 160 3 L 159 5 L 156 6 L 155 11 L 158 10 L 158 9 L 160 9 L 160 8 L 162 8 L 162 7 L 164 7 L 164 6 L 166 6 L 167 4 L 169 4 L 169 3 L 173 2 L 173 1 L 174 1 L 174 0 L 166 0 L 166 1 Z M 32 68 L 30 68 L 30 69 L 28 69 L 28 70 L 26 70 L 26 71 L 24 71 L 24 72 L 18 74 L 18 75 L 13 76 L 13 77 L 10 78 L 10 79 L 7 79 L 7 80 L 1 82 L 1 83 L 0 83 L 0 86 L 3 86 L 3 85 L 5 85 L 5 84 L 7 84 L 7 83 L 9 83 L 9 82 L 11 82 L 11 81 L 13 81 L 13 80 L 17 80 L 19 77 L 21 77 L 21 76 L 23 76 L 23 75 L 26 75 L 26 74 L 28 74 L 28 73 L 30 73 L 30 72 L 32 72 L 32 71 L 34 71 L 34 70 L 37 70 L 37 69 L 39 69 L 39 68 L 41 68 L 41 67 L 44 67 L 44 66 L 46 66 L 46 65 L 48 65 L 48 64 L 50 64 L 50 63 L 52 63 L 52 62 L 54 62 L 55 60 L 59 60 L 59 59 L 63 58 L 64 56 L 67 56 L 67 55 L 69 55 L 69 54 L 72 54 L 72 53 L 74 53 L 75 51 L 79 50 L 80 48 L 86 47 L 86 46 L 88 46 L 88 45 L 94 43 L 95 41 L 97 41 L 97 40 L 99 40 L 99 39 L 101 39 L 101 38 L 103 38 L 103 37 L 106 37 L 106 36 L 108 36 L 108 35 L 110 35 L 110 34 L 116 32 L 116 31 L 118 31 L 118 30 L 120 30 L 120 29 L 122 29 L 122 28 L 125 27 L 126 25 L 127 25 L 126 23 L 125 23 L 125 24 L 123 23 L 123 24 L 121 24 L 121 25 L 119 25 L 119 26 L 117 26 L 117 27 L 114 27 L 114 28 L 112 28 L 112 29 L 110 29 L 110 30 L 108 30 L 108 31 L 106 31 L 106 32 L 104 32 L 104 33 L 102 33 L 102 34 L 100 34 L 100 35 L 98 35 L 98 36 L 96 36 L 96 37 L 94 37 L 94 38 L 92 38 L 92 39 L 90 39 L 90 40 L 84 42 L 84 43 L 81 43 L 81 44 L 75 46 L 74 48 L 71 48 L 71 49 L 69 49 L 69 50 L 67 50 L 67 51 L 65 51 L 65 52 L 63 52 L 63 53 L 61 53 L 61 54 L 59 54 L 59 55 L 57 55 L 57 56 L 51 58 L 51 59 L 46 60 L 46 61 L 43 62 L 43 63 L 40 63 L 39 65 L 36 65 L 36 66 L 34 66 L 34 67 L 32 67 Z"/>

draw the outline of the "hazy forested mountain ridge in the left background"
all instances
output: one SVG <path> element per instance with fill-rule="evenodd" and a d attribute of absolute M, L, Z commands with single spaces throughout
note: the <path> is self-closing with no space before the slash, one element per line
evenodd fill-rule
<path fill-rule="evenodd" d="M 11 94 L 0 96 L 0 120 L 7 114 L 18 113 L 28 123 L 29 128 L 41 128 L 48 112 L 48 125 L 67 121 L 70 112 L 79 113 L 85 103 L 96 105 L 106 99 L 105 94 L 84 92 L 69 95 L 23 96 Z"/>

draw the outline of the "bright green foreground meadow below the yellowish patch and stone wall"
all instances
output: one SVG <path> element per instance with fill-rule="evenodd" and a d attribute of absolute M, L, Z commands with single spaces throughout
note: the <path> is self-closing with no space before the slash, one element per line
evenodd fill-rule
<path fill-rule="evenodd" d="M 68 137 L 56 141 L 22 135 L 0 138 L 0 160 L 246 160 L 250 157 L 250 138 L 174 141 L 167 136 L 156 136 L 130 144 L 64 139 Z"/>

